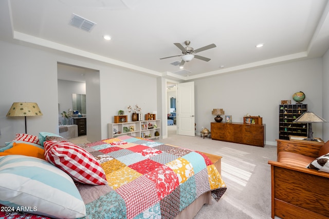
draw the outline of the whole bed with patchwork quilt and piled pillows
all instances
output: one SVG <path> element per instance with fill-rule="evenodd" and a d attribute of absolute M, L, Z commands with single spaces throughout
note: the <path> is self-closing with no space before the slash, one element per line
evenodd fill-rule
<path fill-rule="evenodd" d="M 63 178 L 66 177 L 65 173 L 69 174 L 74 179 L 74 186 L 67 185 L 61 191 L 63 195 L 67 195 L 67 198 L 63 198 L 57 191 L 50 195 L 50 198 L 58 196 L 58 206 L 53 207 L 52 212 L 48 212 L 47 209 L 50 209 L 50 207 L 44 207 L 43 203 L 40 204 L 40 200 L 31 202 L 29 199 L 29 205 L 15 204 L 14 202 L 18 202 L 17 199 L 19 198 L 10 197 L 10 199 L 7 196 L 5 197 L 3 189 L 0 188 L 1 219 L 25 217 L 192 218 L 204 204 L 211 203 L 211 198 L 218 201 L 226 191 L 226 185 L 220 175 L 221 170 L 216 169 L 209 158 L 211 157 L 209 154 L 206 156 L 201 152 L 132 136 L 120 136 L 74 145 L 59 136 L 49 137 L 49 135 L 50 133 L 43 133 L 42 136 L 39 134 L 38 140 L 40 139 L 40 141 L 38 143 L 35 139 L 33 141 L 35 144 L 44 145 L 45 159 L 42 159 L 42 154 L 39 155 L 41 157 L 36 158 L 29 155 L 5 154 L 4 156 L 4 154 L 1 154 L 3 152 L 0 152 L 0 185 L 8 182 L 8 179 L 3 179 L 6 176 L 3 174 L 9 174 L 8 172 L 13 174 L 12 169 L 6 172 L 4 166 L 8 166 L 8 163 L 11 165 L 13 159 L 24 160 L 24 162 L 25 160 L 31 162 L 29 159 L 33 159 L 38 163 L 36 165 L 38 168 L 40 165 L 45 165 L 47 168 L 56 168 L 52 171 L 62 171 L 63 173 L 60 174 Z M 42 149 L 42 147 L 39 148 Z M 64 156 L 61 150 L 65 151 L 67 148 L 77 150 L 77 152 L 67 153 Z M 6 152 L 5 150 L 2 151 Z M 72 154 L 79 154 L 80 151 L 83 154 L 82 158 L 72 156 Z M 79 171 L 77 170 L 72 171 L 72 167 L 69 167 L 69 165 L 72 165 L 73 162 L 68 161 L 67 156 L 71 156 L 69 159 L 77 160 L 86 159 L 87 157 L 92 160 L 91 165 L 88 163 L 90 160 L 87 160 L 83 161 L 87 164 L 84 163 L 79 166 L 79 168 L 92 166 L 93 172 L 90 173 L 92 177 L 83 175 L 88 170 L 82 170 L 81 175 L 78 174 Z M 218 160 L 218 156 L 212 158 L 215 158 L 214 161 Z M 67 164 L 65 162 L 71 163 Z M 220 169 L 220 159 L 218 162 L 216 165 Z M 81 162 L 79 161 L 79 163 Z M 24 165 L 24 168 L 26 168 L 26 165 Z M 33 166 L 33 168 L 35 167 Z M 39 174 L 40 171 L 32 172 L 33 174 Z M 21 177 L 20 174 L 18 173 L 19 176 L 17 177 Z M 96 176 L 93 177 L 93 174 Z M 25 178 L 24 180 L 26 180 Z M 54 180 L 49 180 L 50 176 L 44 177 L 44 175 L 41 175 L 40 178 L 40 181 L 48 178 L 47 183 L 55 183 Z M 61 187 L 64 187 L 64 184 L 66 185 L 65 180 L 68 179 L 63 179 L 63 183 L 60 184 Z M 10 183 L 7 184 L 8 187 L 12 186 Z M 24 182 L 24 185 L 28 184 Z M 33 191 L 31 187 L 27 189 L 28 192 Z M 74 193 L 75 189 L 78 192 Z M 35 188 L 35 192 L 40 190 L 42 190 L 41 186 Z M 45 191 L 50 193 L 47 188 L 45 188 Z M 73 194 L 66 194 L 65 192 Z M 33 196 L 35 195 L 33 194 Z M 44 199 L 42 199 L 43 202 Z M 53 200 L 49 202 L 52 205 L 55 203 Z M 68 210 L 68 213 L 65 213 L 66 210 Z"/>

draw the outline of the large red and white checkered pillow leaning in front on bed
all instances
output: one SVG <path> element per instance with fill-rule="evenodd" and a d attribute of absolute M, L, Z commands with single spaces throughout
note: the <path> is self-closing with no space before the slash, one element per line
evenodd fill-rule
<path fill-rule="evenodd" d="M 104 170 L 95 157 L 67 141 L 45 141 L 45 158 L 74 180 L 84 184 L 106 185 Z"/>

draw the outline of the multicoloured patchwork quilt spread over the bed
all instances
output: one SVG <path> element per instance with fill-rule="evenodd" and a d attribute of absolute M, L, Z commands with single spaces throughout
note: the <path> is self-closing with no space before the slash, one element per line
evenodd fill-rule
<path fill-rule="evenodd" d="M 80 147 L 92 154 L 108 185 L 76 182 L 83 218 L 174 218 L 200 195 L 219 200 L 226 185 L 204 154 L 150 139 L 121 136 Z M 0 211 L 0 218 L 47 218 Z"/>

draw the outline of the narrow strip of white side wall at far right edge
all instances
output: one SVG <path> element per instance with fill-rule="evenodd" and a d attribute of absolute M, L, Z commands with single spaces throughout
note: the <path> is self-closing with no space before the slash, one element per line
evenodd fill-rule
<path fill-rule="evenodd" d="M 323 140 L 329 140 L 329 50 L 322 58 L 322 71 L 322 111 L 323 118 L 327 121 L 327 123 L 323 123 Z"/>

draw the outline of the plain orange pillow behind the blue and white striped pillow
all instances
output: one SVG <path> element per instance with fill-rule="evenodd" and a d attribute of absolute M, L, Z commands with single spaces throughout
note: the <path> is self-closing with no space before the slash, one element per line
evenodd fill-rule
<path fill-rule="evenodd" d="M 44 149 L 26 143 L 13 142 L 12 148 L 4 152 L 0 152 L 0 156 L 6 156 L 6 155 L 25 155 L 30 157 L 38 157 L 46 160 Z"/>

